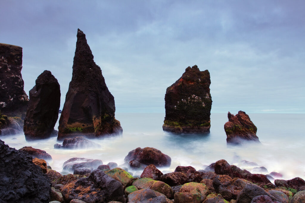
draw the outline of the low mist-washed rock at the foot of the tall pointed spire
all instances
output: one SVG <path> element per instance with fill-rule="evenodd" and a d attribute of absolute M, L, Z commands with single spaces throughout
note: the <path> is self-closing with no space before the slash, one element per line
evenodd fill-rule
<path fill-rule="evenodd" d="M 63 140 L 63 145 L 55 144 L 54 148 L 65 148 L 65 149 L 92 149 L 92 148 L 100 148 L 101 145 L 92 142 L 83 136 L 81 137 L 74 137 L 74 138 L 65 138 Z"/>

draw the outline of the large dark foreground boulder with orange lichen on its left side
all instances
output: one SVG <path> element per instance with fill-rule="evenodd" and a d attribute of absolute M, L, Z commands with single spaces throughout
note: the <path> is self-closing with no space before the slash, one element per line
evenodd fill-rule
<path fill-rule="evenodd" d="M 84 202 L 124 201 L 123 185 L 96 169 L 89 177 L 64 185 L 61 193 L 66 202 L 79 199 Z"/>

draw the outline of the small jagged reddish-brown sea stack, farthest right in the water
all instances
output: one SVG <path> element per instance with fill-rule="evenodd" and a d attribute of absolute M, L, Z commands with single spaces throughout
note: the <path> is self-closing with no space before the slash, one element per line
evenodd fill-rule
<path fill-rule="evenodd" d="M 246 140 L 260 142 L 256 136 L 257 127 L 244 111 L 239 111 L 235 116 L 228 112 L 228 119 L 229 121 L 224 124 L 227 144 L 238 145 Z"/>

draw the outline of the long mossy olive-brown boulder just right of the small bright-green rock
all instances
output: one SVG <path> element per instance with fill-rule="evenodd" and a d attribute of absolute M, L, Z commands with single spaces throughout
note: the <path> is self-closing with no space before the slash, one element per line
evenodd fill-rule
<path fill-rule="evenodd" d="M 164 194 L 167 198 L 172 199 L 174 197 L 174 192 L 171 187 L 159 180 L 152 180 L 151 178 L 140 178 L 135 180 L 132 185 L 138 189 L 149 188 L 154 191 Z"/>

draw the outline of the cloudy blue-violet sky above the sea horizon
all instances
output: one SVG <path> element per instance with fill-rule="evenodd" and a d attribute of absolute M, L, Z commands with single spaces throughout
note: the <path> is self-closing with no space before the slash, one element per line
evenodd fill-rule
<path fill-rule="evenodd" d="M 305 113 L 305 1 L 0 0 L 0 43 L 23 47 L 28 94 L 44 70 L 62 109 L 81 29 L 116 112 L 164 113 L 188 66 L 209 70 L 212 113 Z M 92 81 L 95 82 L 95 81 Z"/>

